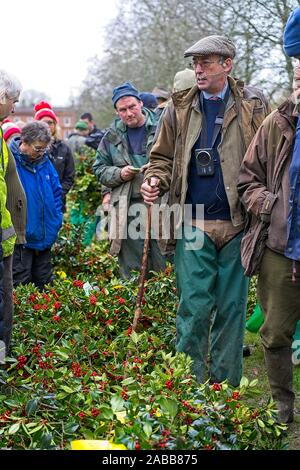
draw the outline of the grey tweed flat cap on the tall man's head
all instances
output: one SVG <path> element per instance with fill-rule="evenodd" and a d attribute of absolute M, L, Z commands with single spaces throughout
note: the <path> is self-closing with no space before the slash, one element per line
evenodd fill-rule
<path fill-rule="evenodd" d="M 184 57 L 196 55 L 217 54 L 224 57 L 234 58 L 236 53 L 235 45 L 226 36 L 212 35 L 200 39 L 184 53 Z"/>

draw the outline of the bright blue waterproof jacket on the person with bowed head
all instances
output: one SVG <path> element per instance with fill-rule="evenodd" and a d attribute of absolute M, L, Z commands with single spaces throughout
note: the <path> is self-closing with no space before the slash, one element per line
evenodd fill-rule
<path fill-rule="evenodd" d="M 50 248 L 62 224 L 62 188 L 57 171 L 47 152 L 35 162 L 20 151 L 20 139 L 10 149 L 27 198 L 27 248 L 43 251 Z"/>

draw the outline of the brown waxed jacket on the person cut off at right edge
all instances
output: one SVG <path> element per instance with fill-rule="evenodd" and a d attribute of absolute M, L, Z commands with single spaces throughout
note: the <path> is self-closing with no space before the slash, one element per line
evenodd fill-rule
<path fill-rule="evenodd" d="M 290 97 L 270 114 L 241 165 L 238 192 L 249 218 L 241 245 L 245 274 L 259 272 L 265 246 L 284 253 L 289 210 L 289 166 L 299 105 Z"/>

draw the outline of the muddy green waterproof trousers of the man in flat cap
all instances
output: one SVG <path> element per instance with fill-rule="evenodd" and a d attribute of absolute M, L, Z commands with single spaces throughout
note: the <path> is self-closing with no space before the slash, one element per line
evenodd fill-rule
<path fill-rule="evenodd" d="M 212 382 L 228 379 L 238 386 L 242 377 L 249 279 L 241 265 L 241 238 L 236 235 L 220 250 L 206 234 L 199 249 L 188 249 L 184 237 L 177 241 L 176 348 L 191 356 L 200 383 L 206 364 Z"/>

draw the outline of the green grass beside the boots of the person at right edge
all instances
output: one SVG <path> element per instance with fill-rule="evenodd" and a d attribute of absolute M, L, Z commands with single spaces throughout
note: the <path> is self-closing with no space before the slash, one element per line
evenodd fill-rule
<path fill-rule="evenodd" d="M 255 333 L 246 333 L 245 344 L 251 348 L 251 356 L 244 358 L 244 375 L 248 379 L 258 379 L 261 389 L 261 401 L 270 397 L 270 389 L 264 366 L 263 349 L 260 336 Z M 300 450 L 300 366 L 294 367 L 294 391 L 296 394 L 295 408 L 298 414 L 295 422 L 289 426 L 287 433 L 288 450 Z M 255 398 L 257 400 L 257 398 Z"/>

